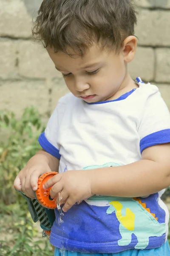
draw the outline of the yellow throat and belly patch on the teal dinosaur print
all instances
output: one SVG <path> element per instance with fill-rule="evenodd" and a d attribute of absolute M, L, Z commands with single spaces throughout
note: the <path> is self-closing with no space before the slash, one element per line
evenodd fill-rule
<path fill-rule="evenodd" d="M 116 217 L 120 221 L 120 223 L 127 229 L 127 230 L 134 230 L 135 228 L 135 214 L 129 209 L 126 208 L 126 215 L 122 216 L 121 210 L 123 205 L 118 201 L 110 202 L 111 205 L 116 209 Z"/>

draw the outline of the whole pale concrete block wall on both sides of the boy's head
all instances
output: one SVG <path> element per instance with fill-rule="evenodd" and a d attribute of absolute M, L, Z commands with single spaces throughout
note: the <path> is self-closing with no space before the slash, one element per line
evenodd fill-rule
<path fill-rule="evenodd" d="M 32 40 L 32 19 L 41 2 L 0 0 L 0 109 L 18 117 L 30 105 L 47 117 L 68 92 L 46 50 Z M 135 2 L 139 47 L 129 71 L 133 79 L 157 84 L 170 108 L 170 0 Z"/>

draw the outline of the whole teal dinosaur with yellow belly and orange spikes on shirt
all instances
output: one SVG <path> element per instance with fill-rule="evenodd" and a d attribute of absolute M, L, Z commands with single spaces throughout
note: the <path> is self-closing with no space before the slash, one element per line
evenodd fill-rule
<path fill-rule="evenodd" d="M 139 198 L 114 197 L 109 202 L 107 214 L 115 212 L 119 221 L 119 232 L 122 236 L 118 240 L 119 246 L 127 246 L 132 241 L 132 234 L 137 238 L 135 249 L 145 249 L 150 237 L 162 237 L 166 234 L 165 223 L 159 223 L 154 213 L 151 213 L 145 203 Z"/>

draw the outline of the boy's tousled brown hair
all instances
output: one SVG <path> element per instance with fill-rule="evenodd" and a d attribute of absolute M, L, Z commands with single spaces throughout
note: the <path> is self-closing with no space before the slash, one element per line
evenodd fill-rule
<path fill-rule="evenodd" d="M 32 29 L 45 48 L 81 55 L 100 42 L 119 51 L 129 35 L 134 35 L 136 10 L 131 0 L 43 0 Z"/>

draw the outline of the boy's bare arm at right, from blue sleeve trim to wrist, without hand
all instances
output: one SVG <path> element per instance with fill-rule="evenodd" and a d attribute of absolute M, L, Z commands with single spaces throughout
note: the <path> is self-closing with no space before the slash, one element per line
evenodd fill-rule
<path fill-rule="evenodd" d="M 170 143 L 146 148 L 142 160 L 125 166 L 94 169 L 92 194 L 139 197 L 170 186 Z"/>

